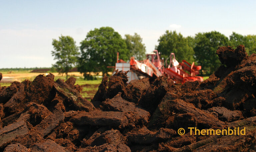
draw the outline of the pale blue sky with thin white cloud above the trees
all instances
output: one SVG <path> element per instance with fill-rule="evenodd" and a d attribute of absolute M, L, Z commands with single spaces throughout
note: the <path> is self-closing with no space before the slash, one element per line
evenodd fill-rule
<path fill-rule="evenodd" d="M 74 38 L 110 26 L 122 37 L 135 32 L 147 52 L 166 30 L 183 36 L 219 31 L 256 35 L 256 1 L 3 1 L 0 0 L 0 68 L 51 67 L 52 39 Z"/>

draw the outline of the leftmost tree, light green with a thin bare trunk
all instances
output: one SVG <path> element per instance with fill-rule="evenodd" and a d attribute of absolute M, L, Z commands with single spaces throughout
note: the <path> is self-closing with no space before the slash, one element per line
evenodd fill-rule
<path fill-rule="evenodd" d="M 70 36 L 61 35 L 59 41 L 56 39 L 52 41 L 54 48 L 52 56 L 54 56 L 54 60 L 58 60 L 53 67 L 55 67 L 59 73 L 65 73 L 66 79 L 68 79 L 68 71 L 75 65 L 77 56 L 79 55 L 78 48 L 75 44 L 76 42 Z"/>

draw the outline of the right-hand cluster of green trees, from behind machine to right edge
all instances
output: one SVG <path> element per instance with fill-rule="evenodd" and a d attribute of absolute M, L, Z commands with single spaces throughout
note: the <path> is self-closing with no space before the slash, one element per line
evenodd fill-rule
<path fill-rule="evenodd" d="M 240 44 L 245 46 L 250 55 L 256 53 L 256 35 L 237 34 L 233 32 L 229 38 L 217 31 L 197 33 L 195 37 L 183 37 L 176 31 L 166 31 L 159 39 L 156 49 L 166 58 L 171 52 L 175 53 L 176 60 L 202 66 L 202 74 L 209 75 L 220 66 L 216 50 L 221 46 L 233 46 Z"/>

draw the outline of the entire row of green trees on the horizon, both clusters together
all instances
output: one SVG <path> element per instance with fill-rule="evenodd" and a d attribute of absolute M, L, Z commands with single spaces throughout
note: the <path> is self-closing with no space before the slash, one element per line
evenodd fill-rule
<path fill-rule="evenodd" d="M 216 50 L 220 46 L 244 45 L 248 54 L 256 53 L 256 35 L 240 35 L 235 32 L 226 37 L 217 31 L 197 33 L 194 37 L 183 37 L 181 33 L 167 30 L 158 39 L 155 49 L 161 54 L 161 58 L 168 58 L 170 53 L 175 53 L 176 60 L 186 60 L 189 63 L 202 66 L 202 74 L 209 75 L 219 66 L 220 62 Z M 78 71 L 99 73 L 104 75 L 114 66 L 117 52 L 119 59 L 128 61 L 130 57 L 143 60 L 146 56 L 146 47 L 142 43 L 140 35 L 121 35 L 111 27 L 95 28 L 87 33 L 86 38 L 76 46 L 76 42 L 70 36 L 60 36 L 59 40 L 53 39 L 54 51 L 52 56 L 57 62 L 53 67 L 60 73 L 68 73 L 74 67 Z M 79 51 L 80 50 L 80 51 Z M 152 50 L 153 51 L 153 50 Z"/>

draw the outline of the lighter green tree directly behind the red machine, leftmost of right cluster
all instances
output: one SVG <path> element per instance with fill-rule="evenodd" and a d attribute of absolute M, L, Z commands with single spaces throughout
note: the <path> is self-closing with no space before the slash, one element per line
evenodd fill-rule
<path fill-rule="evenodd" d="M 176 60 L 182 62 L 186 60 L 190 63 L 194 61 L 194 50 L 193 50 L 193 38 L 184 38 L 180 33 L 177 34 L 176 31 L 166 31 L 158 39 L 158 46 L 156 49 L 161 53 L 161 57 L 166 59 L 171 53 L 175 54 Z"/>

